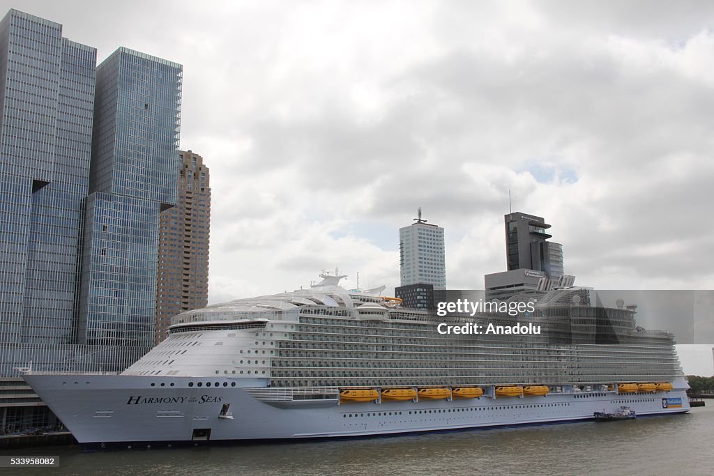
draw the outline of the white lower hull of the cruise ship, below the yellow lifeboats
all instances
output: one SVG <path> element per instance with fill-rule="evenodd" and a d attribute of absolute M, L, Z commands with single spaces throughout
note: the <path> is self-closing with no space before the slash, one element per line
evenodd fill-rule
<path fill-rule="evenodd" d="M 260 379 L 41 374 L 25 375 L 25 379 L 86 447 L 361 437 L 533 425 L 591 420 L 593 412 L 613 412 L 623 405 L 632 407 L 638 416 L 689 410 L 684 378 L 676 380 L 669 392 L 572 392 L 381 403 L 278 398 L 276 395 L 286 389 L 261 388 Z M 198 381 L 201 388 L 196 387 Z M 189 388 L 188 383 L 196 385 Z M 205 383 L 211 386 L 206 388 Z M 255 387 L 241 387 L 246 384 Z M 228 403 L 232 415 L 219 416 Z"/>

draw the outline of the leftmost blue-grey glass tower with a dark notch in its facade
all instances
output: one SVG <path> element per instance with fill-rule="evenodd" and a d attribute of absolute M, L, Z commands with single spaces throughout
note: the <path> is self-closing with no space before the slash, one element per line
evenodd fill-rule
<path fill-rule="evenodd" d="M 60 24 L 0 22 L 0 377 L 76 350 L 95 75 Z"/>

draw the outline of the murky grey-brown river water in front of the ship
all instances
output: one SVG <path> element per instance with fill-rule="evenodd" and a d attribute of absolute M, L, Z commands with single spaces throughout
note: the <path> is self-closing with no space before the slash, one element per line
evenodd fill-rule
<path fill-rule="evenodd" d="M 707 403 L 687 415 L 621 422 L 276 445 L 94 453 L 44 447 L 0 454 L 59 455 L 59 468 L 16 471 L 37 475 L 712 475 L 714 400 Z"/>

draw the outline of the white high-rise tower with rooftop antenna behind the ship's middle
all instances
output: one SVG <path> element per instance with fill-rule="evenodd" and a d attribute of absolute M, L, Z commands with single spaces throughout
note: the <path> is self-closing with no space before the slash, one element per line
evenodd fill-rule
<path fill-rule="evenodd" d="M 434 290 L 446 289 L 444 229 L 418 218 L 399 228 L 401 285 L 431 284 Z"/>

